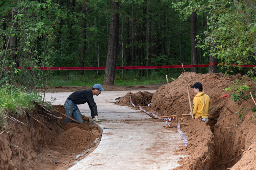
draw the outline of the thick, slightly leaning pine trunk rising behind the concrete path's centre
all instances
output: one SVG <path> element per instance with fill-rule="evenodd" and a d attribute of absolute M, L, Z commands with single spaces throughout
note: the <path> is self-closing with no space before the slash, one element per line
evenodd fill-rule
<path fill-rule="evenodd" d="M 112 14 L 110 21 L 109 47 L 106 59 L 106 70 L 103 80 L 103 85 L 114 85 L 116 72 L 116 58 L 118 50 L 118 27 L 119 27 L 119 3 L 114 0 L 111 1 Z"/>

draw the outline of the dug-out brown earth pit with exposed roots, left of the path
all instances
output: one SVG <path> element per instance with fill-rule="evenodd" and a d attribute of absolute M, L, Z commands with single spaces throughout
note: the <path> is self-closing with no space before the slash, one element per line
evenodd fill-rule
<path fill-rule="evenodd" d="M 56 108 L 65 113 L 62 105 Z M 23 116 L 7 113 L 8 133 L 0 135 L 0 169 L 64 170 L 96 149 L 101 134 L 98 128 L 89 126 L 89 117 L 82 116 L 84 124 L 64 124 L 63 116 L 55 116 L 62 119 L 58 121 L 46 114 L 41 106 Z M 96 138 L 99 140 L 94 143 Z M 86 150 L 89 152 L 75 159 Z"/>

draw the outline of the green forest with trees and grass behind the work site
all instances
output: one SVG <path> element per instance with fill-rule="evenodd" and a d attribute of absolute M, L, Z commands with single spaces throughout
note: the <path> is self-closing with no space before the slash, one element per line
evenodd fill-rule
<path fill-rule="evenodd" d="M 185 70 L 255 74 L 255 68 L 240 67 L 255 63 L 255 1 L 0 0 L 0 4 L 1 85 L 32 89 L 161 84 L 165 74 L 177 78 L 183 71 L 115 70 L 115 66 L 211 63 L 209 68 Z M 106 73 L 38 69 L 104 66 Z"/>

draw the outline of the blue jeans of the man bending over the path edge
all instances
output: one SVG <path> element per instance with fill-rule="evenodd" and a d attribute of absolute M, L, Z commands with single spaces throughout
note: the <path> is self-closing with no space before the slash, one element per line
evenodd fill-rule
<path fill-rule="evenodd" d="M 73 101 L 67 99 L 65 104 L 64 104 L 64 109 L 65 109 L 65 115 L 67 115 L 69 117 L 73 116 L 73 118 L 75 120 L 83 123 L 83 119 L 82 119 L 82 115 L 80 113 L 80 110 Z M 69 118 L 65 117 L 65 122 L 64 123 L 67 123 L 67 122 L 71 122 L 71 120 Z"/>

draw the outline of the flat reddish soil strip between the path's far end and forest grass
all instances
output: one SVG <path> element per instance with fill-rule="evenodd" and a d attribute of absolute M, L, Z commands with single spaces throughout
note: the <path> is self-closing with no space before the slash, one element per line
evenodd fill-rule
<path fill-rule="evenodd" d="M 105 91 L 131 91 L 131 90 L 157 90 L 161 85 L 154 84 L 154 85 L 136 85 L 136 86 L 109 86 L 109 85 L 102 85 L 102 88 L 105 89 Z M 84 89 L 91 89 L 91 86 L 54 86 L 51 87 L 52 92 L 74 92 L 77 90 L 84 90 Z M 43 89 L 44 90 L 44 89 Z M 50 92 L 49 89 L 46 90 L 46 92 Z M 39 89 L 41 92 L 41 89 Z"/>

